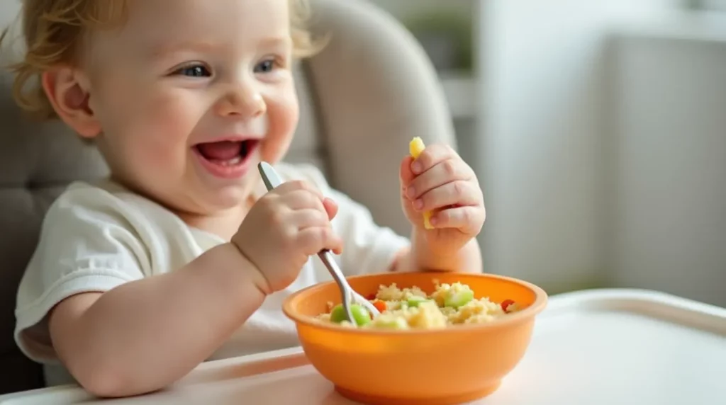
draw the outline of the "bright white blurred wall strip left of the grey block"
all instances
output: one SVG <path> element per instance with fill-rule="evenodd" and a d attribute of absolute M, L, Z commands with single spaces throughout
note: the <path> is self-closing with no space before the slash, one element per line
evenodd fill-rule
<path fill-rule="evenodd" d="M 489 0 L 481 7 L 486 270 L 550 291 L 603 275 L 606 30 L 667 0 Z"/>

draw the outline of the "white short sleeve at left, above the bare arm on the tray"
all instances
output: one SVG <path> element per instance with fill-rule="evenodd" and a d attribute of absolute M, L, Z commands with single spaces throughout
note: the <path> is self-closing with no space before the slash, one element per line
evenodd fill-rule
<path fill-rule="evenodd" d="M 144 277 L 147 255 L 123 216 L 123 201 L 75 186 L 50 206 L 17 293 L 15 341 L 30 359 L 54 362 L 47 314 L 60 301 Z"/>

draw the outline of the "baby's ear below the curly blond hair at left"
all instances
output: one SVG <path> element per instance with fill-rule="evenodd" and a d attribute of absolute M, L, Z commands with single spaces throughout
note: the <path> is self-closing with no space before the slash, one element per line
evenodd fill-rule
<path fill-rule="evenodd" d="M 101 133 L 101 125 L 89 104 L 89 82 L 80 70 L 57 67 L 41 77 L 43 89 L 61 120 L 83 138 Z"/>

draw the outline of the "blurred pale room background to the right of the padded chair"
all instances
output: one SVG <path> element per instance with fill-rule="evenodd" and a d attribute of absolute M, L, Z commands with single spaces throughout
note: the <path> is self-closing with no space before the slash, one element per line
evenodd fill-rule
<path fill-rule="evenodd" d="M 726 0 L 370 0 L 439 70 L 487 272 L 726 306 Z"/>

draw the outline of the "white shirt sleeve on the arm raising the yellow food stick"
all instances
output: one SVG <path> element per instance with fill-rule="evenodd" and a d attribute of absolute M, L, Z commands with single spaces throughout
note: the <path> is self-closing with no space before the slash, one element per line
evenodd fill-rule
<path fill-rule="evenodd" d="M 300 165 L 298 170 L 338 204 L 333 229 L 343 238 L 340 266 L 346 275 L 386 272 L 396 256 L 410 246 L 408 238 L 396 234 L 390 227 L 377 225 L 365 206 L 331 188 L 316 167 Z"/>

